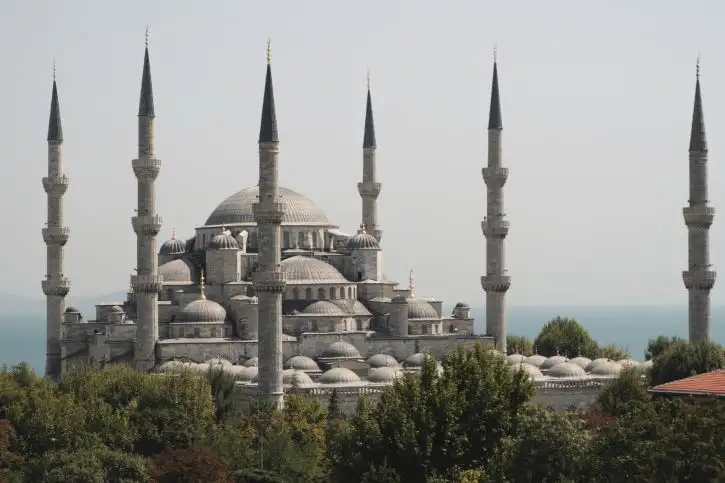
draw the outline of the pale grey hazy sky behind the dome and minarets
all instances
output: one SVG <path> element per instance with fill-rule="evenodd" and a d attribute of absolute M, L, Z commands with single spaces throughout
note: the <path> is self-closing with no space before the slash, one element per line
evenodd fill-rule
<path fill-rule="evenodd" d="M 723 208 L 711 253 L 716 267 L 725 259 L 723 18 L 716 0 L 4 0 L 0 291 L 42 297 L 54 58 L 72 293 L 128 286 L 149 24 L 160 242 L 173 228 L 191 236 L 219 202 L 256 184 L 269 37 L 282 184 L 355 230 L 370 68 L 385 272 L 406 281 L 413 268 L 420 295 L 483 305 L 480 170 L 497 42 L 510 303 L 685 304 L 698 52 L 711 201 Z"/>

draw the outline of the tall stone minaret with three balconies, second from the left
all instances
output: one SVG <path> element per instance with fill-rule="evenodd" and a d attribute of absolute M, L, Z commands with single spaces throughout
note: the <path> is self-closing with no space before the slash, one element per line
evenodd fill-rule
<path fill-rule="evenodd" d="M 141 77 L 141 98 L 138 106 L 138 158 L 132 162 L 138 180 L 138 208 L 131 218 L 136 232 L 136 272 L 131 283 L 136 300 L 136 345 L 134 365 L 140 371 L 156 363 L 156 341 L 159 338 L 158 300 L 161 277 L 157 271 L 156 235 L 161 229 L 161 217 L 156 214 L 156 177 L 161 162 L 156 159 L 154 146 L 154 95 L 151 85 L 148 32 Z"/>

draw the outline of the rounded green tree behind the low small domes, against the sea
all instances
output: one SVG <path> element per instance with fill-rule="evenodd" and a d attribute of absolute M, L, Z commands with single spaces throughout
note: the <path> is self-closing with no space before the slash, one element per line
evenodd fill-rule
<path fill-rule="evenodd" d="M 534 341 L 542 356 L 560 354 L 569 358 L 583 355 L 596 357 L 597 343 L 582 325 L 574 319 L 556 317 L 541 328 Z"/>

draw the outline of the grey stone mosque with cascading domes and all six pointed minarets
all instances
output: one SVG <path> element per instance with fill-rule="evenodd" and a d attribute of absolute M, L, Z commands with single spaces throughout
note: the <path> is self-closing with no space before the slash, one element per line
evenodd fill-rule
<path fill-rule="evenodd" d="M 98 304 L 86 320 L 65 304 L 70 281 L 63 250 L 70 229 L 63 223 L 69 180 L 61 157 L 58 88 L 54 76 L 48 127 L 46 376 L 73 366 L 130 364 L 140 371 L 218 367 L 238 379 L 243 400 L 264 398 L 281 406 L 285 392 L 329 400 L 334 391 L 346 411 L 361 395 L 377 397 L 406 372 L 419 371 L 427 357 L 440 360 L 461 345 L 491 346 L 515 370 L 537 383 L 538 402 L 563 409 L 586 405 L 601 385 L 626 366 L 648 370 L 651 362 L 590 361 L 579 357 L 506 356 L 504 297 L 511 280 L 504 263 L 509 222 L 503 212 L 501 106 L 494 57 L 488 123 L 486 217 L 486 334 L 475 335 L 470 307 L 458 302 L 449 315 L 440 300 L 414 292 L 384 273 L 377 200 L 375 126 L 368 82 L 358 183 L 361 218 L 354 234 L 341 230 L 309 198 L 278 184 L 279 134 L 272 66 L 267 67 L 259 133 L 259 180 L 223 200 L 188 237 L 171 238 L 157 251 L 162 220 L 156 212 L 155 180 L 161 170 L 155 150 L 155 108 L 148 41 L 144 52 L 138 111 L 138 205 L 131 225 L 137 261 L 126 300 Z M 684 215 L 690 237 L 691 338 L 709 337 L 709 291 L 714 271 L 707 257 L 706 160 L 699 68 L 690 145 L 691 200 Z"/>

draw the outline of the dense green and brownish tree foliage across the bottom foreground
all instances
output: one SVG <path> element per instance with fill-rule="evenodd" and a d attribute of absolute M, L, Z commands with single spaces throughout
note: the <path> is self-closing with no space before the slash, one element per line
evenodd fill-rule
<path fill-rule="evenodd" d="M 674 341 L 653 377 L 721 357 L 715 344 Z M 18 366 L 0 372 L 0 482 L 725 481 L 725 402 L 652 396 L 648 383 L 623 371 L 592 408 L 555 413 L 477 346 L 442 369 L 426 360 L 346 417 L 336 394 L 329 410 L 288 396 L 283 411 L 242 413 L 213 371 L 81 368 L 56 384 Z"/>

